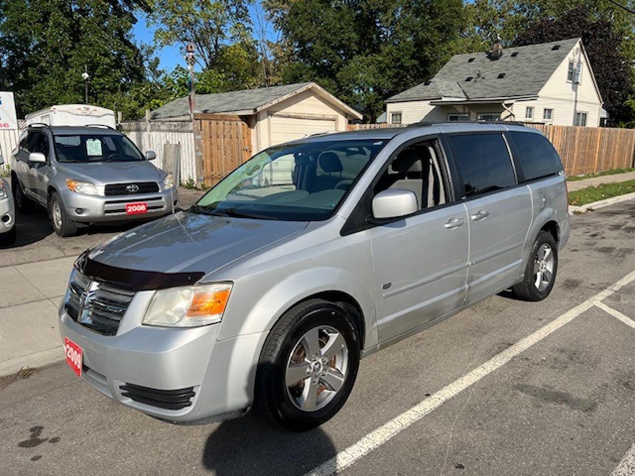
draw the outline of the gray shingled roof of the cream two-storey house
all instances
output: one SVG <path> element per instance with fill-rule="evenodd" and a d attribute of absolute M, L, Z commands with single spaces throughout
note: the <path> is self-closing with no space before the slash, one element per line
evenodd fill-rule
<path fill-rule="evenodd" d="M 455 55 L 432 78 L 386 102 L 460 97 L 465 99 L 536 96 L 579 38 L 505 48 L 498 60 L 489 53 Z M 558 50 L 552 48 L 560 45 Z M 512 56 L 513 53 L 518 53 Z M 474 58 L 470 61 L 470 58 Z M 504 77 L 499 78 L 499 74 Z M 470 81 L 466 81 L 471 78 Z M 457 93 L 458 96 L 457 96 Z"/>

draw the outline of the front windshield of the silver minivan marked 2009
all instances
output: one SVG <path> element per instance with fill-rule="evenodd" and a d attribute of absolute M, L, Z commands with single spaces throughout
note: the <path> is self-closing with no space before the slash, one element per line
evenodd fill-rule
<path fill-rule="evenodd" d="M 271 147 L 234 170 L 189 211 L 260 220 L 326 220 L 386 142 Z"/>

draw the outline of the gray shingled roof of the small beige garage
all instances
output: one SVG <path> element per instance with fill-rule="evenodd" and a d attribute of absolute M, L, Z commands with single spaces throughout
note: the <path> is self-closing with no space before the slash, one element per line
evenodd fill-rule
<path fill-rule="evenodd" d="M 242 91 L 231 91 L 229 93 L 196 95 L 196 109 L 208 114 L 244 110 L 253 111 L 309 84 L 311 83 L 296 83 L 271 86 L 270 88 L 243 89 Z M 188 98 L 178 98 L 153 110 L 150 113 L 150 119 L 188 116 L 189 111 Z"/>

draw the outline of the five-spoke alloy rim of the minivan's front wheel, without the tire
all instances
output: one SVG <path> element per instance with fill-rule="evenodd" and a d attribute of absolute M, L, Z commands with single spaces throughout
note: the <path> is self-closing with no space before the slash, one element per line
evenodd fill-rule
<path fill-rule="evenodd" d="M 344 336 L 330 326 L 314 327 L 293 347 L 284 385 L 291 402 L 302 411 L 328 405 L 344 385 L 349 349 Z"/>

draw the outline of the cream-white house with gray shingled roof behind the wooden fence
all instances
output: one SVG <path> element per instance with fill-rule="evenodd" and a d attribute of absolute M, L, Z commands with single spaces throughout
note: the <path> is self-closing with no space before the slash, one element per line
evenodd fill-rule
<path fill-rule="evenodd" d="M 602 98 L 580 38 L 455 55 L 430 81 L 386 101 L 387 121 L 600 124 Z"/>

